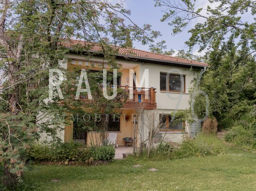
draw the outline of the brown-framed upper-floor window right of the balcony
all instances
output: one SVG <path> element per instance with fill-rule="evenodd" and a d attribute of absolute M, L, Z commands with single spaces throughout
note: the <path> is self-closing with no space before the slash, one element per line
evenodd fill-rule
<path fill-rule="evenodd" d="M 185 92 L 185 76 L 160 73 L 160 91 Z"/>

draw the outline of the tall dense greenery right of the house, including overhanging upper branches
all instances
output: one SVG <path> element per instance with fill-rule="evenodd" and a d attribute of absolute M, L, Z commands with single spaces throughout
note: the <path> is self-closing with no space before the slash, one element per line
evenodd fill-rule
<path fill-rule="evenodd" d="M 218 121 L 235 121 L 243 115 L 255 118 L 256 1 L 209 0 L 207 8 L 198 8 L 197 1 L 190 0 L 155 2 L 156 6 L 166 8 L 161 21 L 169 21 L 173 34 L 201 19 L 189 30 L 191 36 L 186 45 L 190 49 L 199 45 L 199 51 L 207 50 L 209 68 L 201 89 L 211 100 L 211 114 Z M 247 109 L 238 109 L 242 105 Z"/>

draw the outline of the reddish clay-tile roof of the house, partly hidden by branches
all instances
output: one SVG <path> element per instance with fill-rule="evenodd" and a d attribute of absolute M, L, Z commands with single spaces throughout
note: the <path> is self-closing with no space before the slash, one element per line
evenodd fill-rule
<path fill-rule="evenodd" d="M 102 52 L 101 47 L 97 43 L 88 43 L 82 40 L 64 40 L 61 42 L 61 45 L 64 47 L 72 48 L 73 46 L 88 46 L 90 45 L 90 49 L 92 52 Z M 182 65 L 194 65 L 199 67 L 208 66 L 206 63 L 198 62 L 198 61 L 190 61 L 183 58 L 173 57 L 169 55 L 159 54 L 159 53 L 151 53 L 149 51 L 138 50 L 135 48 L 122 48 L 120 46 L 113 46 L 118 49 L 118 53 L 120 56 L 124 57 L 131 57 L 137 59 L 144 59 L 144 60 L 154 60 L 154 61 L 161 61 L 161 62 L 168 62 L 168 63 L 175 63 L 175 64 L 182 64 Z"/>

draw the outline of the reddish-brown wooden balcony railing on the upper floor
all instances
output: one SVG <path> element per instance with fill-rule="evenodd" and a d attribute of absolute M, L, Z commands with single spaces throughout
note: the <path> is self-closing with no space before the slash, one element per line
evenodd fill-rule
<path fill-rule="evenodd" d="M 112 85 L 110 86 L 113 87 Z M 132 92 L 133 95 L 132 99 L 123 99 L 123 108 L 133 109 L 136 107 L 143 107 L 145 109 L 155 109 L 157 107 L 156 88 L 138 88 L 128 85 L 117 85 L 117 88 L 124 89 L 128 94 Z M 87 96 L 80 96 L 80 99 L 88 101 Z"/>

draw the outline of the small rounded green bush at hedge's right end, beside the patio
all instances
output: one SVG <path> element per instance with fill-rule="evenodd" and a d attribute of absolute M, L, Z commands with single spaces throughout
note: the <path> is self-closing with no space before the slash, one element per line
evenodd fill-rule
<path fill-rule="evenodd" d="M 91 157 L 93 160 L 112 160 L 115 157 L 113 146 L 91 147 Z"/>

